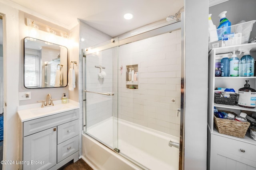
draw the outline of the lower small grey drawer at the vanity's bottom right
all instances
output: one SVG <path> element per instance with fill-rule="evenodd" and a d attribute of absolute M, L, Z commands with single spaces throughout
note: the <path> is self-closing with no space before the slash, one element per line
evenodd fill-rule
<path fill-rule="evenodd" d="M 57 163 L 74 154 L 79 149 L 79 135 L 57 145 Z"/>

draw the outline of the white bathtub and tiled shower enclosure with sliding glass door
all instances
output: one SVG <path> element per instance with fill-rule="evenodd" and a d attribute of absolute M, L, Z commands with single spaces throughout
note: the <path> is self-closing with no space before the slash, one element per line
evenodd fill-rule
<path fill-rule="evenodd" d="M 181 27 L 83 49 L 82 158 L 92 168 L 182 169 Z"/>

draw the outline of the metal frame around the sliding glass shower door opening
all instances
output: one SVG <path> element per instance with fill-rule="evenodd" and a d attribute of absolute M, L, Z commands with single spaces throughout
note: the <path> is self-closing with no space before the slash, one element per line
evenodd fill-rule
<path fill-rule="evenodd" d="M 166 24 L 166 23 L 165 23 Z M 168 23 L 167 23 L 168 24 Z M 180 101 L 180 108 L 177 108 L 178 111 L 180 111 L 180 152 L 179 152 L 179 170 L 184 170 L 184 118 L 185 118 L 185 54 L 184 54 L 184 12 L 181 12 L 181 21 L 178 21 L 176 23 L 170 23 L 168 25 L 163 25 L 163 26 L 159 26 L 155 29 L 151 29 L 150 31 L 145 31 L 143 33 L 140 33 L 138 35 L 134 35 L 131 37 L 127 37 L 124 39 L 120 39 L 118 40 L 118 43 L 114 44 L 110 44 L 110 45 L 104 45 L 102 47 L 98 47 L 97 50 L 102 51 L 105 49 L 110 49 L 116 46 L 122 46 L 125 44 L 129 44 L 129 43 L 133 43 L 136 41 L 140 41 L 143 39 L 147 39 L 150 37 L 154 37 L 157 35 L 162 35 L 164 33 L 168 33 L 168 32 L 172 32 L 172 31 L 176 31 L 181 29 L 181 101 Z M 93 53 L 93 52 L 92 52 Z M 84 89 L 86 89 L 86 66 L 85 65 L 85 55 L 88 55 L 90 53 L 88 53 L 88 51 L 85 51 L 85 49 L 82 50 L 82 54 L 83 54 L 83 131 L 86 131 L 86 93 L 84 92 Z M 88 133 L 86 133 L 88 135 Z M 89 135 L 90 137 L 92 137 L 91 135 Z M 94 137 L 92 137 L 94 138 Z M 95 139 L 95 138 L 94 138 Z M 97 140 L 97 139 L 96 139 Z M 97 140 L 98 141 L 98 140 Z M 100 142 L 100 141 L 99 141 Z M 100 142 L 102 143 L 102 142 Z M 107 145 L 105 145 L 104 143 L 102 143 L 104 146 L 108 147 Z M 168 144 L 166 144 L 168 145 Z M 109 149 L 111 149 L 110 147 L 108 147 Z M 111 149 L 113 150 L 113 149 Z M 114 152 L 116 152 L 115 150 L 113 150 Z M 128 161 L 130 162 L 134 162 L 133 160 L 130 160 L 129 158 L 127 158 L 126 156 L 120 154 L 122 157 L 128 159 Z M 143 167 L 143 166 L 142 166 Z"/>

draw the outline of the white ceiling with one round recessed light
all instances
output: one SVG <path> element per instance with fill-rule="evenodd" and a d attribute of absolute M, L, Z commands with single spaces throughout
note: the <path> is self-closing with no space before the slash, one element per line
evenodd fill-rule
<path fill-rule="evenodd" d="M 71 29 L 80 19 L 115 37 L 132 29 L 165 19 L 184 6 L 184 0 L 8 0 L 22 9 L 45 16 Z M 13 3 L 14 2 L 14 3 Z M 21 9 L 21 10 L 22 10 Z M 26 12 L 26 11 L 24 11 Z M 125 20 L 124 14 L 133 18 Z M 33 14 L 33 13 L 31 13 Z"/>

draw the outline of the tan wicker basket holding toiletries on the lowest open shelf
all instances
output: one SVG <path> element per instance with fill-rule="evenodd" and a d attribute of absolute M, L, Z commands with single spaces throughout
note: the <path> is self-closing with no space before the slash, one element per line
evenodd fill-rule
<path fill-rule="evenodd" d="M 219 110 L 223 111 L 223 110 Z M 236 116 L 236 113 L 231 111 L 224 111 L 226 113 L 232 113 Z M 219 133 L 230 135 L 234 137 L 244 138 L 248 127 L 250 126 L 249 122 L 242 122 L 230 119 L 221 119 L 214 115 L 214 126 Z"/>

